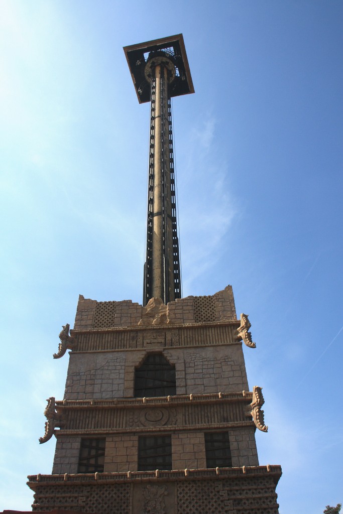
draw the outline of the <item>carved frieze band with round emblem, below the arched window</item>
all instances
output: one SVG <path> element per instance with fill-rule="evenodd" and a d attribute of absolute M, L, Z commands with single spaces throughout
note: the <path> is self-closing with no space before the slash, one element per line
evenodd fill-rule
<path fill-rule="evenodd" d="M 118 400 L 62 400 L 56 404 L 60 414 L 55 414 L 55 418 L 51 415 L 50 419 L 60 420 L 63 414 L 59 436 L 136 433 L 149 428 L 161 432 L 254 427 L 248 408 L 251 409 L 253 397 L 253 393 L 244 392 L 244 395 L 217 393 Z"/>

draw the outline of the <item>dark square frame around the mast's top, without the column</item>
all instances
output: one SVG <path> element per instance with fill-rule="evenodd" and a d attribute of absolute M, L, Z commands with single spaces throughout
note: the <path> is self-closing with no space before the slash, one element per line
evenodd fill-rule
<path fill-rule="evenodd" d="M 145 77 L 144 70 L 148 54 L 151 51 L 167 50 L 176 62 L 177 73 L 170 87 L 170 97 L 194 93 L 182 34 L 146 41 L 145 43 L 138 43 L 138 45 L 124 46 L 123 49 L 139 103 L 150 101 L 150 84 Z"/>

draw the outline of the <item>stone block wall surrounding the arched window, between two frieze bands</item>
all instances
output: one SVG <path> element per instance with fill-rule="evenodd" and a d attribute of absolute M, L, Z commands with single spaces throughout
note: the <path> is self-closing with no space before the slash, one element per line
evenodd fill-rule
<path fill-rule="evenodd" d="M 148 353 L 147 350 L 71 352 L 64 398 L 132 398 L 135 368 Z M 248 390 L 240 343 L 229 346 L 171 348 L 160 353 L 175 365 L 176 394 Z"/>

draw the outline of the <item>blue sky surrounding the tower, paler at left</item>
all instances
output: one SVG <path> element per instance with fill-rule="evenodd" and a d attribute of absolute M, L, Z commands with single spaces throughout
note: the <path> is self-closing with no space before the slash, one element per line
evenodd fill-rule
<path fill-rule="evenodd" d="M 149 107 L 122 47 L 184 34 L 173 100 L 183 293 L 232 284 L 281 514 L 342 502 L 343 3 L 0 1 L 0 509 L 50 473 L 45 399 L 79 293 L 141 302 Z"/>

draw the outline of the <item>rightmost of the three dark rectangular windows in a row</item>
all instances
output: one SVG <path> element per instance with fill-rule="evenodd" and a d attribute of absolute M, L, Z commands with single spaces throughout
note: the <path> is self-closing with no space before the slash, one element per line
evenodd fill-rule
<path fill-rule="evenodd" d="M 205 433 L 206 466 L 208 468 L 232 467 L 228 432 Z"/>

